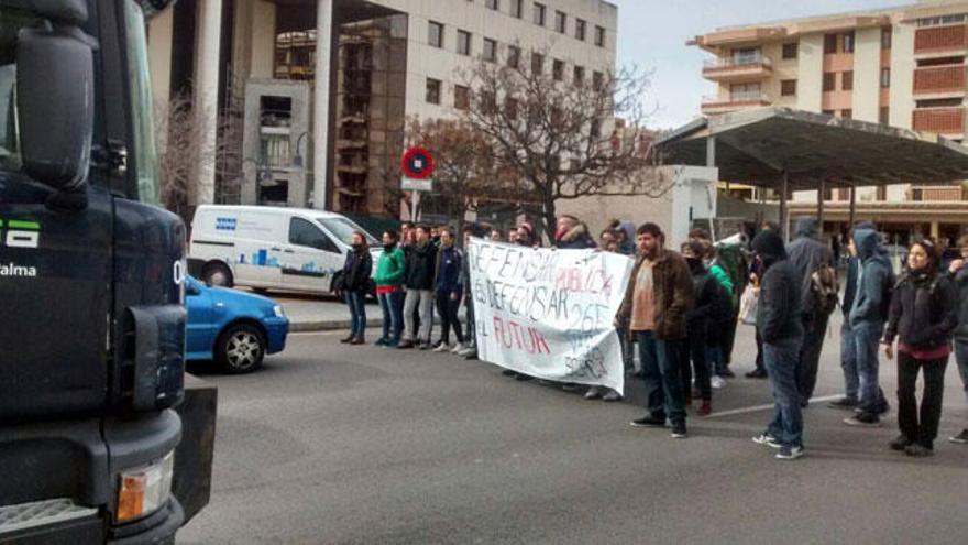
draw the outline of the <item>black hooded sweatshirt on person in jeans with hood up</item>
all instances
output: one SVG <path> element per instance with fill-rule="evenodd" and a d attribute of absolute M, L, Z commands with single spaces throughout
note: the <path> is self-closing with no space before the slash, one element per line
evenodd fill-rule
<path fill-rule="evenodd" d="M 801 302 L 803 283 L 800 272 L 787 258 L 780 233 L 768 229 L 752 240 L 763 275 L 757 305 L 757 329 L 765 342 L 778 342 L 803 336 Z M 792 362 L 791 362 L 792 363 Z"/>

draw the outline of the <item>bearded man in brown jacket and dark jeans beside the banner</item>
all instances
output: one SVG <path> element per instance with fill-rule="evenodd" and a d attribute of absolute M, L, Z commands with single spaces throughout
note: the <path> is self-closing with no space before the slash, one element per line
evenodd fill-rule
<path fill-rule="evenodd" d="M 663 248 L 666 235 L 656 224 L 636 231 L 639 258 L 632 268 L 616 325 L 628 324 L 639 345 L 648 394 L 648 414 L 632 421 L 636 427 L 664 427 L 672 423 L 672 437 L 686 437 L 685 392 L 682 391 L 680 355 L 686 349 L 685 315 L 692 305 L 693 281 L 689 264 Z"/>

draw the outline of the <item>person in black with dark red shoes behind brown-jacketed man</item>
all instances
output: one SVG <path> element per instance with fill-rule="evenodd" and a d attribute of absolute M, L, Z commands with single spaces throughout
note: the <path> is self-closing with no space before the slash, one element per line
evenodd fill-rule
<path fill-rule="evenodd" d="M 682 388 L 685 392 L 686 405 L 691 404 L 692 377 L 695 371 L 696 389 L 702 397 L 702 405 L 696 414 L 707 416 L 713 412 L 713 388 L 711 384 L 712 369 L 706 361 L 706 339 L 713 334 L 714 325 L 722 324 L 732 310 L 732 302 L 725 288 L 710 274 L 703 257 L 710 251 L 708 244 L 692 240 L 682 244 L 682 257 L 692 272 L 694 298 L 692 308 L 686 313 L 686 335 L 689 350 L 681 352 Z M 692 361 L 692 367 L 690 367 Z"/>

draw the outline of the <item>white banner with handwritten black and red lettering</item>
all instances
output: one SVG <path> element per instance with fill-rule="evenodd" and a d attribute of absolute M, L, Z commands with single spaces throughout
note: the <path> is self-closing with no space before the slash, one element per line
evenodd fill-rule
<path fill-rule="evenodd" d="M 476 238 L 468 259 L 481 360 L 624 394 L 625 369 L 613 321 L 631 259 Z"/>

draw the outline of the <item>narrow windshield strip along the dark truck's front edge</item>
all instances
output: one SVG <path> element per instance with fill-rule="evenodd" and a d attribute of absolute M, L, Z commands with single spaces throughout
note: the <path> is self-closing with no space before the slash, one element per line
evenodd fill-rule
<path fill-rule="evenodd" d="M 144 12 L 134 0 L 124 2 L 128 36 L 128 78 L 131 87 L 131 122 L 134 132 L 134 175 L 138 198 L 158 204 L 158 154 L 155 148 L 151 77 L 148 75 Z"/>

